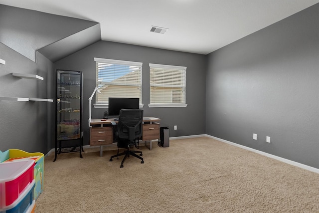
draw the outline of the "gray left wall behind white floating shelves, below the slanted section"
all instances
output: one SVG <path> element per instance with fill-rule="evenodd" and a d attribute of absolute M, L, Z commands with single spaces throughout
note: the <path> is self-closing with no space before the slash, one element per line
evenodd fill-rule
<path fill-rule="evenodd" d="M 0 96 L 51 98 L 53 63 L 37 54 L 37 63 L 0 43 Z M 44 80 L 12 76 L 12 72 L 37 74 Z M 0 100 L 0 150 L 21 149 L 47 153 L 54 139 L 52 102 L 16 102 Z M 53 122 L 53 123 L 52 123 Z M 53 136 L 53 138 L 52 138 Z"/>

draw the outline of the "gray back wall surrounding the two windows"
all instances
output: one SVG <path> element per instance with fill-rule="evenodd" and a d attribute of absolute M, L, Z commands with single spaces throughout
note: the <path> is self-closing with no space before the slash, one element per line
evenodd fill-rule
<path fill-rule="evenodd" d="M 94 57 L 143 62 L 142 100 L 144 115 L 161 119 L 160 126 L 169 127 L 169 136 L 186 136 L 205 133 L 205 72 L 207 56 L 157 48 L 100 41 L 54 63 L 55 69 L 83 71 L 84 75 L 84 144 L 89 144 L 88 99 L 95 88 Z M 186 66 L 187 107 L 149 108 L 150 68 L 149 63 Z M 107 108 L 94 108 L 92 119 L 103 117 Z M 173 126 L 177 125 L 177 130 Z"/>

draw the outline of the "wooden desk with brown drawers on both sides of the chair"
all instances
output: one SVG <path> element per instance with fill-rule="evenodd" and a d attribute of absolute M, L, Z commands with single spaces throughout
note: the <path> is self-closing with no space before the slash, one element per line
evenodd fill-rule
<path fill-rule="evenodd" d="M 111 122 L 114 119 L 92 119 L 90 125 L 90 146 L 100 146 L 100 157 L 103 156 L 103 145 L 113 144 L 113 126 Z M 160 139 L 160 118 L 143 118 L 143 136 L 142 141 L 150 141 L 150 150 L 152 150 L 152 140 Z"/>

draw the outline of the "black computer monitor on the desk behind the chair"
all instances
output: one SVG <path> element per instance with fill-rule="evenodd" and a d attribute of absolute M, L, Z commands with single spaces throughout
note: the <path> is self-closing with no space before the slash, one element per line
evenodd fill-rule
<path fill-rule="evenodd" d="M 109 116 L 119 116 L 121 109 L 139 108 L 139 98 L 109 98 Z"/>

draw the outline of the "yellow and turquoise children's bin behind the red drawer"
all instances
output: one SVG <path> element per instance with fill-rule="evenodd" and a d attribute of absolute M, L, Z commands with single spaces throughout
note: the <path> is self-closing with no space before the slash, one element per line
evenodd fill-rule
<path fill-rule="evenodd" d="M 34 199 L 36 200 L 43 192 L 43 178 L 44 178 L 44 154 L 40 152 L 28 153 L 18 149 L 9 149 L 5 152 L 0 151 L 0 162 L 34 160 Z"/>

